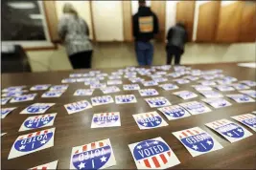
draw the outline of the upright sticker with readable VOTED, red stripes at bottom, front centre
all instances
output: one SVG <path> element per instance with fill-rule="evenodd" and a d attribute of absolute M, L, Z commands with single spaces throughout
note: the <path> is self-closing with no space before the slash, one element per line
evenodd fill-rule
<path fill-rule="evenodd" d="M 163 138 L 151 138 L 128 145 L 137 169 L 167 169 L 180 163 Z"/>

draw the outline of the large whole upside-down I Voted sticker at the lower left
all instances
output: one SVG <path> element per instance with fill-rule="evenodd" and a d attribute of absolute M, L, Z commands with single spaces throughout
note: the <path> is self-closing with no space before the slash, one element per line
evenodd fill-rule
<path fill-rule="evenodd" d="M 55 128 L 19 136 L 12 145 L 8 159 L 25 156 L 54 146 Z"/>

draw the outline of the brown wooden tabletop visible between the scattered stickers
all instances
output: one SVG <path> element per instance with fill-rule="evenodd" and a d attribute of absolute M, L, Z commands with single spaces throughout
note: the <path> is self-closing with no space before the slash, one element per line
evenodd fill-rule
<path fill-rule="evenodd" d="M 193 69 L 210 70 L 210 69 L 221 69 L 223 74 L 237 77 L 239 80 L 254 80 L 255 81 L 255 69 L 238 67 L 236 64 L 208 64 L 208 65 L 193 65 Z M 81 71 L 66 71 L 66 72 L 51 72 L 51 73 L 34 73 L 34 74 L 2 74 L 2 89 L 15 85 L 27 85 L 29 89 L 31 86 L 36 84 L 61 84 L 61 79 L 69 77 L 72 73 L 87 73 L 90 70 Z M 111 73 L 113 69 L 102 70 L 104 73 Z M 172 70 L 173 71 L 173 70 Z M 107 79 L 107 78 L 106 78 Z M 169 78 L 170 80 L 172 78 Z M 127 78 L 123 79 L 124 84 L 130 84 Z M 172 81 L 170 81 L 172 82 Z M 139 83 L 140 84 L 140 83 Z M 196 92 L 191 85 L 178 85 L 179 90 L 190 90 Z M 122 85 L 118 85 L 120 89 Z M 144 89 L 140 84 L 141 89 Z M 58 169 L 69 169 L 71 150 L 74 146 L 80 146 L 82 144 L 90 143 L 93 141 L 110 138 L 113 152 L 117 164 L 110 168 L 114 169 L 136 169 L 134 160 L 132 159 L 131 153 L 128 149 L 128 144 L 142 141 L 145 139 L 163 138 L 173 149 L 175 155 L 180 160 L 180 164 L 176 165 L 175 169 L 203 169 L 203 168 L 244 168 L 244 169 L 256 169 L 256 134 L 249 130 L 253 136 L 245 138 L 241 141 L 230 143 L 226 139 L 214 131 L 204 126 L 205 123 L 218 120 L 221 118 L 227 118 L 232 120 L 231 116 L 237 116 L 241 114 L 250 113 L 256 110 L 255 103 L 239 104 L 226 98 L 233 105 L 226 108 L 214 109 L 210 107 L 213 112 L 202 114 L 198 116 L 186 117 L 177 120 L 168 121 L 166 127 L 160 127 L 151 130 L 139 130 L 136 122 L 132 115 L 155 111 L 144 100 L 144 97 L 140 96 L 138 91 L 128 92 L 121 91 L 120 93 L 110 94 L 111 96 L 116 95 L 129 95 L 134 94 L 137 98 L 136 104 L 124 104 L 117 105 L 115 103 L 107 104 L 103 106 L 96 106 L 92 109 L 84 112 L 68 115 L 63 105 L 82 99 L 90 101 L 91 96 L 73 96 L 77 89 L 85 89 L 83 83 L 70 84 L 68 90 L 59 98 L 41 98 L 43 92 L 38 91 L 38 96 L 35 97 L 34 101 L 11 103 L 5 107 L 18 107 L 10 115 L 2 119 L 2 133 L 8 133 L 1 138 L 2 152 L 1 161 L 3 169 L 28 169 L 40 164 L 48 163 L 58 159 Z M 159 87 L 155 88 L 159 92 L 159 96 L 165 96 L 172 104 L 179 104 L 186 102 L 185 100 L 174 96 L 172 93 L 175 91 L 163 91 Z M 253 89 L 253 88 L 252 88 Z M 176 90 L 176 91 L 179 91 Z M 198 94 L 198 92 L 196 92 Z M 237 93 L 237 92 L 231 92 Z M 229 94 L 229 93 L 223 93 Z M 100 90 L 96 90 L 93 96 L 104 96 Z M 196 99 L 199 100 L 204 98 L 200 96 Z M 31 131 L 18 132 L 18 129 L 22 122 L 31 115 L 20 115 L 19 113 L 27 106 L 34 104 L 35 102 L 54 102 L 56 105 L 52 107 L 47 113 L 58 113 L 55 120 L 54 127 L 56 127 L 55 134 L 55 145 L 54 147 L 44 149 L 26 156 L 22 156 L 15 159 L 7 159 L 12 148 L 14 140 L 20 136 L 31 133 Z M 91 119 L 93 114 L 102 112 L 120 112 L 121 115 L 121 127 L 112 128 L 97 128 L 91 129 Z M 212 137 L 220 141 L 223 149 L 214 151 L 208 154 L 204 154 L 193 158 L 185 147 L 179 142 L 172 132 L 184 130 L 192 127 L 200 127 L 208 132 Z M 35 131 L 33 131 L 35 132 Z"/>

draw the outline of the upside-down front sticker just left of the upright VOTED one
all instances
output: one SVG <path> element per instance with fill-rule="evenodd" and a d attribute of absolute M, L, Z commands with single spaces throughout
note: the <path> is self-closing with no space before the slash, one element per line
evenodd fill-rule
<path fill-rule="evenodd" d="M 109 138 L 72 148 L 70 169 L 105 169 L 116 165 Z"/>

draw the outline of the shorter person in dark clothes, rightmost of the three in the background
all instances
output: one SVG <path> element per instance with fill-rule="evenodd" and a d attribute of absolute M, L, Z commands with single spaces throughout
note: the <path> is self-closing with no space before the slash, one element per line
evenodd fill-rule
<path fill-rule="evenodd" d="M 173 56 L 175 55 L 175 65 L 180 64 L 180 57 L 184 53 L 184 46 L 188 41 L 188 34 L 184 24 L 177 23 L 170 28 L 167 34 L 167 64 L 172 64 Z"/>

